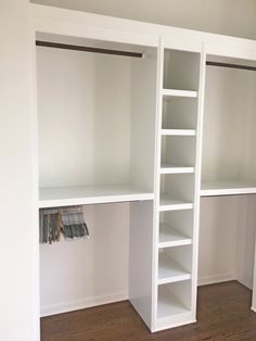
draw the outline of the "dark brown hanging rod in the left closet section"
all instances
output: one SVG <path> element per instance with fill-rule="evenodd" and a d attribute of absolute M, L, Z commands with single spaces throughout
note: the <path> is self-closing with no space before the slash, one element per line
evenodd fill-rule
<path fill-rule="evenodd" d="M 93 47 L 84 47 L 84 46 L 60 43 L 60 42 L 52 42 L 52 41 L 36 40 L 36 46 L 46 47 L 46 48 L 54 48 L 54 49 L 82 51 L 82 52 L 94 52 L 94 53 L 103 53 L 103 54 L 143 58 L 143 53 L 140 53 L 140 52 L 111 50 L 111 49 L 102 49 L 102 48 L 93 48 Z"/>

